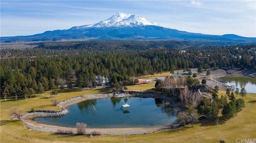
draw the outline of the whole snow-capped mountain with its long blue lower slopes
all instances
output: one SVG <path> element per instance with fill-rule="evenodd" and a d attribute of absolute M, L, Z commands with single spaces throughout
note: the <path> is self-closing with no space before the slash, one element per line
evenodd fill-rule
<path fill-rule="evenodd" d="M 1 42 L 66 41 L 66 40 L 190 40 L 254 42 L 256 37 L 234 34 L 207 35 L 171 29 L 134 14 L 118 12 L 96 24 L 75 26 L 70 29 L 45 31 L 44 33 L 1 37 Z"/>

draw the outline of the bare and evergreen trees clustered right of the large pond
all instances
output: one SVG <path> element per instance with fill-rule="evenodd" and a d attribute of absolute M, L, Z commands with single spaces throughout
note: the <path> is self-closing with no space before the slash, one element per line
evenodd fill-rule
<path fill-rule="evenodd" d="M 186 84 L 184 84 L 186 85 Z M 185 86 L 184 86 L 185 87 Z M 215 87 L 218 89 L 217 87 Z M 180 88 L 179 98 L 183 104 L 189 107 L 189 110 L 180 112 L 178 119 L 180 124 L 193 123 L 198 121 L 198 114 L 203 114 L 207 119 L 214 119 L 221 112 L 222 116 L 227 120 L 237 115 L 245 107 L 245 102 L 242 98 L 236 99 L 234 92 L 230 88 L 226 90 L 226 96 L 218 98 L 218 90 L 212 94 L 213 102 L 209 98 L 202 97 L 199 92 L 193 88 Z M 245 88 L 236 88 L 236 96 L 246 96 Z M 228 98 L 229 101 L 228 102 Z M 197 112 L 196 112 L 197 109 Z M 218 125 L 218 118 L 216 118 L 216 125 Z"/>

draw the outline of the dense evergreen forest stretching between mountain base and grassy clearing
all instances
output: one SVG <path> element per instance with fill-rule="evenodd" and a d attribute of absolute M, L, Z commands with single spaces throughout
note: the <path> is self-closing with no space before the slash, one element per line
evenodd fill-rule
<path fill-rule="evenodd" d="M 167 41 L 162 42 L 164 47 L 151 45 L 150 49 L 144 47 L 154 42 L 141 43 L 126 45 L 126 42 L 112 42 L 113 47 L 123 45 L 119 49 L 111 49 L 111 42 L 107 41 L 91 42 L 98 47 L 95 49 L 86 42 L 78 45 L 70 42 L 70 46 L 38 43 L 38 47 L 33 49 L 1 49 L 1 96 L 28 96 L 63 84 L 70 85 L 71 82 L 90 86 L 97 74 L 133 84 L 132 76 L 200 66 L 212 70 L 228 67 L 256 69 L 255 43 L 203 49 L 168 48 Z M 180 42 L 177 47 L 184 46 L 184 43 Z"/>

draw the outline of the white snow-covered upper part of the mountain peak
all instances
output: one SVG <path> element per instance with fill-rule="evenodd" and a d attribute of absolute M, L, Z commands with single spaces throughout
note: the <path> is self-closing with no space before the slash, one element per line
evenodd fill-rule
<path fill-rule="evenodd" d="M 142 26 L 142 25 L 154 25 L 165 27 L 164 25 L 156 24 L 143 18 L 142 16 L 134 15 L 134 14 L 124 14 L 122 12 L 118 12 L 114 16 L 111 16 L 107 20 L 101 21 L 96 24 L 90 25 L 81 25 L 72 27 L 71 29 L 86 29 L 86 28 L 105 28 L 105 27 L 134 27 L 134 26 Z"/>

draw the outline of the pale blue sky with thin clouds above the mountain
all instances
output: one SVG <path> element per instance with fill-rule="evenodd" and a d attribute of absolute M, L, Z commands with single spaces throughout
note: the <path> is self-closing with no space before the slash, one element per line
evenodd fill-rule
<path fill-rule="evenodd" d="M 123 12 L 173 29 L 212 35 L 256 37 L 256 0 L 1 0 L 1 36 L 98 23 Z"/>

